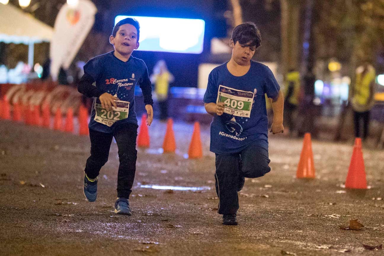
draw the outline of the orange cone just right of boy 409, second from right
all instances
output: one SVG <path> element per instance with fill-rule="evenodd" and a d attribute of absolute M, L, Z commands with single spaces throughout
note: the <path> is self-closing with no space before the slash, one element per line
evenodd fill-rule
<path fill-rule="evenodd" d="M 297 166 L 296 178 L 313 179 L 314 177 L 311 134 L 306 133 L 304 135 L 304 143 L 300 154 L 299 165 Z"/>

